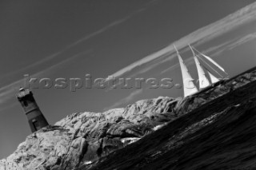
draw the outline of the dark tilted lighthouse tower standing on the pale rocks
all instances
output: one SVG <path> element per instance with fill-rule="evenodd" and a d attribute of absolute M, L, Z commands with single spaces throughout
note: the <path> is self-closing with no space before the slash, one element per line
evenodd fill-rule
<path fill-rule="evenodd" d="M 26 113 L 27 120 L 29 121 L 32 132 L 49 125 L 46 118 L 43 116 L 36 101 L 34 100 L 33 93 L 29 89 L 21 88 L 16 94 L 18 101 L 21 103 L 24 112 Z"/>

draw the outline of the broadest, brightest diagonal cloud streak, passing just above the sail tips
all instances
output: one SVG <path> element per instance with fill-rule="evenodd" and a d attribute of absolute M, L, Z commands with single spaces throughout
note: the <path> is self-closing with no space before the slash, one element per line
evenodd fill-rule
<path fill-rule="evenodd" d="M 217 22 L 214 22 L 208 26 L 204 26 L 191 34 L 188 34 L 178 41 L 171 43 L 171 45 L 168 45 L 155 53 L 143 57 L 141 60 L 135 61 L 125 68 L 118 70 L 118 72 L 113 73 L 111 76 L 121 77 L 122 75 L 129 73 L 138 66 L 145 65 L 146 63 L 154 61 L 159 57 L 165 56 L 168 53 L 174 53 L 173 44 L 175 44 L 178 49 L 182 49 L 186 47 L 187 44 L 200 45 L 205 42 L 209 42 L 210 40 L 217 38 L 222 34 L 229 32 L 230 30 L 238 28 L 238 26 L 242 26 L 248 22 L 256 20 L 255 10 L 256 2 L 234 12 L 233 14 L 226 16 L 225 18 L 222 18 L 221 20 L 218 20 Z M 106 79 L 106 81 L 108 80 Z"/>

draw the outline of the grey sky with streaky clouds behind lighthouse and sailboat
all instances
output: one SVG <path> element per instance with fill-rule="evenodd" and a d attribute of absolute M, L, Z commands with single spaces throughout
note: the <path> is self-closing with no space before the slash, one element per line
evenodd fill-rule
<path fill-rule="evenodd" d="M 30 77 L 171 78 L 182 85 L 177 46 L 197 79 L 187 44 L 217 61 L 229 77 L 256 65 L 253 0 L 84 0 L 0 2 L 0 158 L 30 128 L 15 93 Z M 221 73 L 226 77 L 225 73 Z M 216 77 L 218 75 L 215 74 Z M 88 78 L 88 77 L 87 77 Z M 71 113 L 102 113 L 142 99 L 182 97 L 178 88 L 31 88 L 47 121 Z M 74 83 L 74 81 L 73 81 Z"/>

